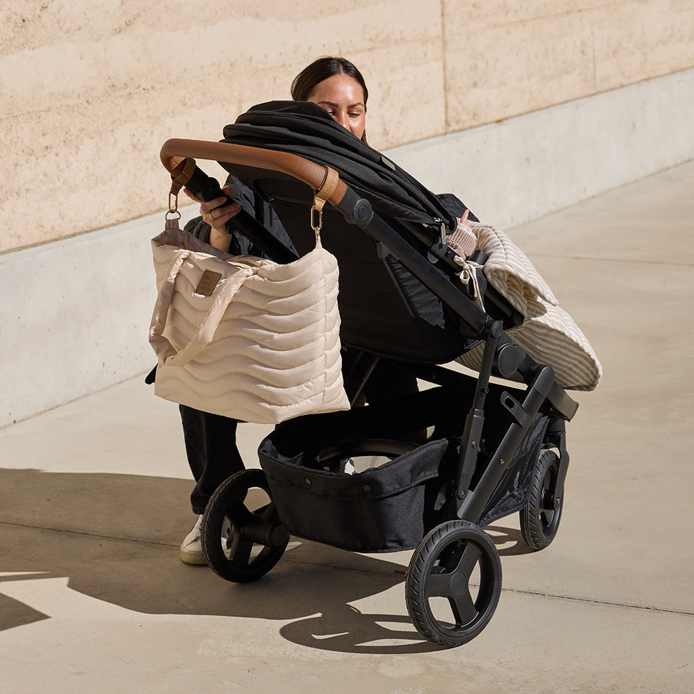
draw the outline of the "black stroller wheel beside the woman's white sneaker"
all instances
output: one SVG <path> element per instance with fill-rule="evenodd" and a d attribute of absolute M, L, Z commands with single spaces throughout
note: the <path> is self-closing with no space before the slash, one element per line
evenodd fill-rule
<path fill-rule="evenodd" d="M 248 500 L 251 489 L 264 492 L 262 502 Z M 248 539 L 244 527 L 254 521 L 276 525 L 272 541 Z M 228 527 L 230 532 L 226 532 Z M 277 564 L 289 542 L 289 533 L 278 522 L 262 470 L 240 471 L 219 485 L 205 508 L 201 539 L 205 561 L 227 581 L 255 581 Z"/>

